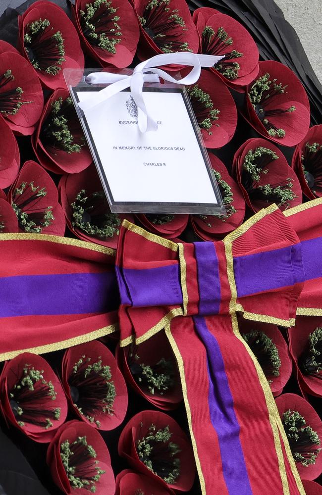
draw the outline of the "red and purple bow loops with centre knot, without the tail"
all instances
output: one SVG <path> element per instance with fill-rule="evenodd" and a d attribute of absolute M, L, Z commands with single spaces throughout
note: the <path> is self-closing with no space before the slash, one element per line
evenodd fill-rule
<path fill-rule="evenodd" d="M 290 326 L 305 281 L 301 243 L 275 205 L 215 243 L 176 244 L 124 221 L 116 265 L 123 345 L 175 316 L 241 311 Z"/>

